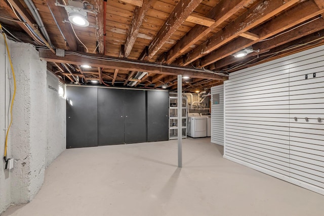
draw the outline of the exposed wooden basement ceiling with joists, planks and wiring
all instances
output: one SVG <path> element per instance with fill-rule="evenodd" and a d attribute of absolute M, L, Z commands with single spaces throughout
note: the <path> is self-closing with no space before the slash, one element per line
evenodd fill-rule
<path fill-rule="evenodd" d="M 67 21 L 61 6 L 74 2 L 88 10 L 88 27 Z M 0 1 L 3 31 L 36 46 L 62 82 L 173 91 L 183 74 L 186 92 L 324 44 L 322 15 L 322 0 Z"/>

